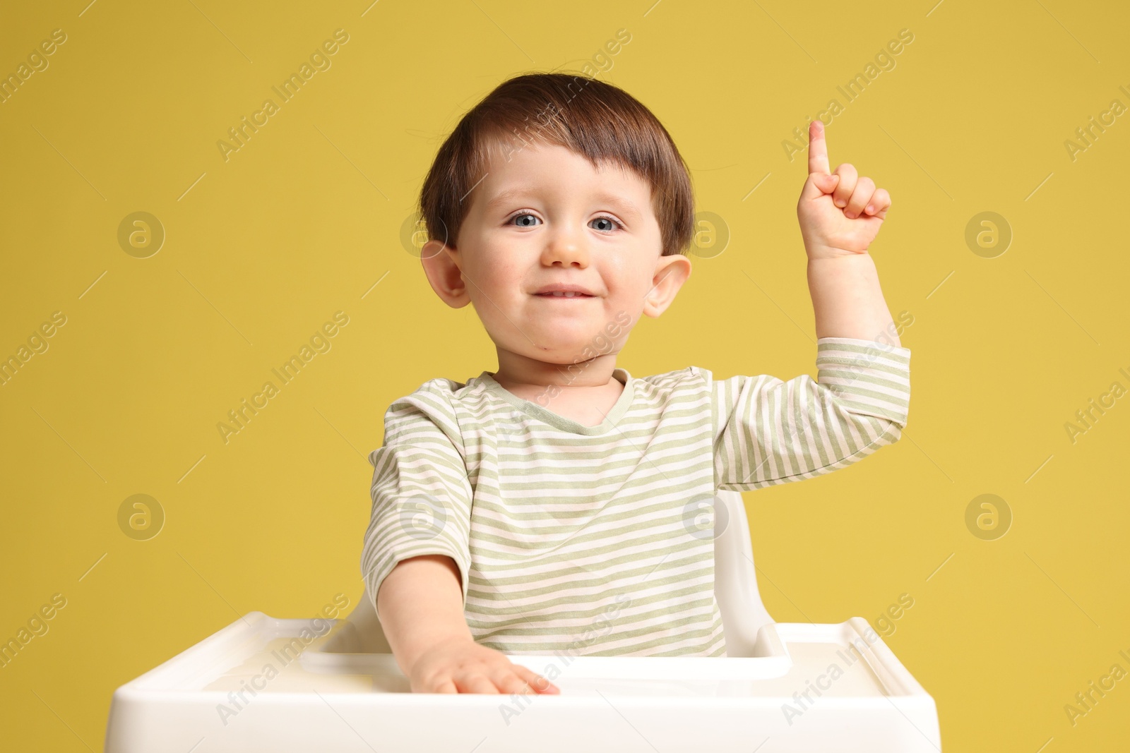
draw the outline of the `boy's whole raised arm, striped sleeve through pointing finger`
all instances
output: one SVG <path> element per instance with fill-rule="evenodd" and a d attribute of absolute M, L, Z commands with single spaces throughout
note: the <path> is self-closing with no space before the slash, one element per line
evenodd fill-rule
<path fill-rule="evenodd" d="M 817 380 L 768 375 L 714 380 L 715 480 L 754 490 L 845 467 L 897 441 L 910 404 L 910 354 L 867 248 L 890 196 L 851 165 L 828 173 L 824 124 L 809 126 L 797 203 L 816 314 Z M 870 208 L 870 209 L 868 209 Z"/>

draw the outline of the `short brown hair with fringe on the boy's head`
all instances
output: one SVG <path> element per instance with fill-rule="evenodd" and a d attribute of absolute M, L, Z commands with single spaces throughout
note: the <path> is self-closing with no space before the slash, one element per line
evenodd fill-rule
<path fill-rule="evenodd" d="M 470 201 L 486 175 L 490 147 L 512 150 L 539 140 L 586 157 L 594 167 L 629 168 L 651 185 L 662 255 L 681 254 L 694 233 L 690 175 L 667 129 L 619 87 L 584 75 L 527 73 L 499 84 L 462 120 L 436 152 L 424 181 L 419 214 L 428 238 L 454 247 Z"/>

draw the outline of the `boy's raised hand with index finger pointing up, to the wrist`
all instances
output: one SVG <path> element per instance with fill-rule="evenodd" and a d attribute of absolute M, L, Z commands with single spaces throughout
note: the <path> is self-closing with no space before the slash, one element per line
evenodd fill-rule
<path fill-rule="evenodd" d="M 890 194 L 875 181 L 859 177 L 844 163 L 828 173 L 828 147 L 824 123 L 808 126 L 808 180 L 797 202 L 797 218 L 809 259 L 831 259 L 867 253 L 887 217 Z"/>

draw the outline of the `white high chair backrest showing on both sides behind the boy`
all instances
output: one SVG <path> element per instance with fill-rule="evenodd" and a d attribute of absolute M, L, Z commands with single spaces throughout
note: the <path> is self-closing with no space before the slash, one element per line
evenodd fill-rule
<path fill-rule="evenodd" d="M 722 613 L 725 654 L 754 656 L 757 631 L 763 624 L 773 622 L 773 618 L 765 611 L 757 590 L 754 549 L 741 492 L 719 490 L 714 513 L 714 596 Z M 338 650 L 392 653 L 367 588 L 347 620 L 356 628 L 356 632 L 349 631 L 349 642 L 354 645 Z"/>

